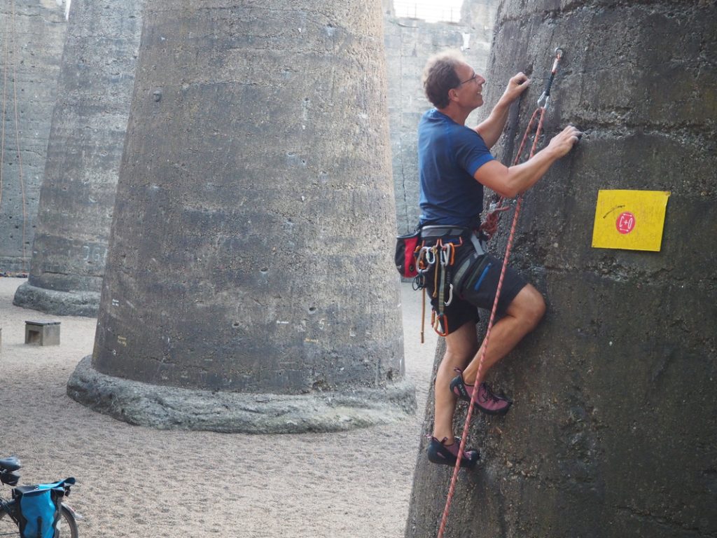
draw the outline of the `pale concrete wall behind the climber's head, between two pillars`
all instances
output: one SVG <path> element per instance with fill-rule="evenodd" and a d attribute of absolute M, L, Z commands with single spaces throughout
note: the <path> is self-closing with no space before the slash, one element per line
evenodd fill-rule
<path fill-rule="evenodd" d="M 421 82 L 423 67 L 436 52 L 461 49 L 467 39 L 469 48 L 464 50 L 467 61 L 476 72 L 485 73 L 496 5 L 497 0 L 466 0 L 460 24 L 429 23 L 384 14 L 391 168 L 399 233 L 414 230 L 420 215 L 417 128 L 423 113 L 432 108 Z M 507 82 L 498 84 L 505 86 Z M 475 118 L 477 115 L 472 115 L 468 124 L 475 123 Z"/>

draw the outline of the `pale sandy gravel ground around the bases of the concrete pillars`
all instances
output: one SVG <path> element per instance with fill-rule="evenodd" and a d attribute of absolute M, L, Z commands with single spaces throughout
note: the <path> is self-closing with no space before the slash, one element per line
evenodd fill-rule
<path fill-rule="evenodd" d="M 417 415 L 345 433 L 229 435 L 131 426 L 70 400 L 65 383 L 92 352 L 95 319 L 13 306 L 24 281 L 0 278 L 0 456 L 21 459 L 21 483 L 77 478 L 67 501 L 84 516 L 80 537 L 404 535 L 436 345 L 429 326 L 419 344 L 420 294 L 409 284 Z M 60 321 L 60 346 L 25 345 L 27 320 Z"/>

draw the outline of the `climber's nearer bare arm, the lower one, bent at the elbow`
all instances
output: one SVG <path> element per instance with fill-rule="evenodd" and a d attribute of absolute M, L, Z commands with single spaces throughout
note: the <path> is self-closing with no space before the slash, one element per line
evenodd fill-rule
<path fill-rule="evenodd" d="M 508 168 L 498 161 L 489 161 L 476 170 L 473 177 L 502 197 L 516 197 L 536 184 L 555 161 L 568 153 L 581 134 L 577 128 L 567 126 L 554 136 L 546 148 L 523 164 Z"/>

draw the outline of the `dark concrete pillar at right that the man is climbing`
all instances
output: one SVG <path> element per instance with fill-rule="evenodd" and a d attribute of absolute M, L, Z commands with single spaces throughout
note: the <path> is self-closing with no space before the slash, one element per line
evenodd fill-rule
<path fill-rule="evenodd" d="M 486 102 L 518 70 L 533 73 L 520 127 L 498 154 L 508 161 L 520 142 L 555 47 L 565 57 L 546 135 L 572 122 L 586 136 L 523 204 L 513 265 L 546 294 L 548 313 L 495 367 L 491 380 L 516 403 L 473 421 L 484 463 L 461 471 L 445 536 L 711 536 L 717 11 L 561 5 L 508 0 L 498 11 Z M 599 189 L 672 193 L 660 252 L 592 248 Z M 437 535 L 451 472 L 421 453 L 407 537 Z"/>

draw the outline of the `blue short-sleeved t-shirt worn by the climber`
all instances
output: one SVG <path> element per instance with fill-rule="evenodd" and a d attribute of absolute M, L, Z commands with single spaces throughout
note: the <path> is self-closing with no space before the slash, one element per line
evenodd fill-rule
<path fill-rule="evenodd" d="M 478 227 L 483 185 L 473 177 L 493 156 L 483 138 L 435 108 L 418 126 L 421 225 Z"/>

